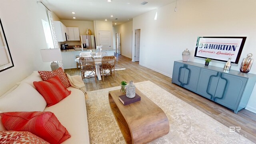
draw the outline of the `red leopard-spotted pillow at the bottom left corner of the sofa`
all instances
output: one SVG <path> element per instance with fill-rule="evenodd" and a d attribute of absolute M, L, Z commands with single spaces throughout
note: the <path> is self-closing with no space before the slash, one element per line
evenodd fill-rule
<path fill-rule="evenodd" d="M 31 132 L 0 131 L 1 144 L 50 144 Z"/>

